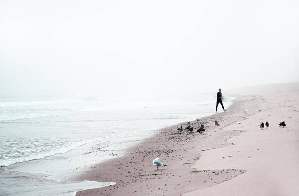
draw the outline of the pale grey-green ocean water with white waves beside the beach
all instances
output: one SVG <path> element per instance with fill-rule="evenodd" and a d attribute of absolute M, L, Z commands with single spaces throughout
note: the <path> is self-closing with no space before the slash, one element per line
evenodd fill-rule
<path fill-rule="evenodd" d="M 0 101 L 0 195 L 74 195 L 113 185 L 71 179 L 158 128 L 214 112 L 211 95 Z"/>

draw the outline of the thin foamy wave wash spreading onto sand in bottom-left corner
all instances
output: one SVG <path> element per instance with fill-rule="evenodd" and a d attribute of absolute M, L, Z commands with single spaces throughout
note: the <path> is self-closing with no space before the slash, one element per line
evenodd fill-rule
<path fill-rule="evenodd" d="M 0 195 L 75 196 L 79 191 L 115 185 L 112 182 L 59 181 L 48 177 L 49 174 L 20 172 L 2 168 L 0 170 Z"/>

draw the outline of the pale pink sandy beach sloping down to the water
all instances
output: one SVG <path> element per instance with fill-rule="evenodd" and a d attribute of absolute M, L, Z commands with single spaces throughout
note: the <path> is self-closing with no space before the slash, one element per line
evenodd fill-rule
<path fill-rule="evenodd" d="M 94 165 L 76 177 L 115 182 L 115 186 L 77 195 L 298 195 L 299 84 L 230 93 L 237 99 L 229 111 L 191 122 L 195 130 L 203 123 L 203 134 L 178 133 L 176 127 L 186 123 L 161 129 L 126 149 L 126 156 Z M 266 121 L 269 128 L 260 130 L 260 123 Z M 285 128 L 278 126 L 281 121 L 286 122 Z M 157 171 L 152 165 L 155 157 L 167 167 Z"/>

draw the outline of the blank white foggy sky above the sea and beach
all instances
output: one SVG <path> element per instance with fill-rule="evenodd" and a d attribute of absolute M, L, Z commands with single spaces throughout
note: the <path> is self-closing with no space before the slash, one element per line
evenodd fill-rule
<path fill-rule="evenodd" d="M 299 81 L 298 0 L 0 0 L 0 95 Z"/>

